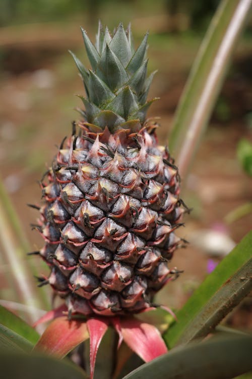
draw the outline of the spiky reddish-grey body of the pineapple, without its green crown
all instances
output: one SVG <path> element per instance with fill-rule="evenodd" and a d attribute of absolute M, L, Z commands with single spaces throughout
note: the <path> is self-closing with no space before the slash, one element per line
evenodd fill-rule
<path fill-rule="evenodd" d="M 170 277 L 179 175 L 155 126 L 113 135 L 80 126 L 43 180 L 40 255 L 73 312 L 135 313 Z"/>

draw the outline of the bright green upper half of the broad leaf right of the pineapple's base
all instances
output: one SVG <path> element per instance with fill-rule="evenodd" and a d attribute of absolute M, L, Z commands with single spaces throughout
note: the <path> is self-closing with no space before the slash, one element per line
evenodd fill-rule
<path fill-rule="evenodd" d="M 216 300 L 216 292 L 224 283 L 229 280 L 237 270 L 251 259 L 252 256 L 252 231 L 250 231 L 242 241 L 229 253 L 223 261 L 216 267 L 216 269 L 204 280 L 202 285 L 195 291 L 193 296 L 186 302 L 182 309 L 180 309 L 176 316 L 177 322 L 174 323 L 164 334 L 164 339 L 168 346 L 173 347 L 183 333 L 185 333 L 191 322 L 198 319 L 199 314 L 204 314 L 206 306 L 209 306 L 210 301 Z M 250 264 L 251 275 L 251 264 Z M 243 279 L 240 279 L 243 281 Z M 245 279 L 246 281 L 246 279 Z M 238 280 L 239 283 L 239 280 Z M 237 283 L 237 288 L 238 288 Z M 236 288 L 236 289 L 237 289 Z M 228 294 L 228 296 L 230 293 Z M 209 303 L 209 304 L 208 304 Z M 213 310 L 214 312 L 214 310 Z M 205 319 L 206 321 L 206 319 Z M 216 319 L 213 321 L 213 326 L 216 325 Z M 208 324 L 208 328 L 211 325 Z M 200 330 L 202 324 L 199 323 Z M 194 333 L 197 334 L 197 325 L 195 324 Z"/>

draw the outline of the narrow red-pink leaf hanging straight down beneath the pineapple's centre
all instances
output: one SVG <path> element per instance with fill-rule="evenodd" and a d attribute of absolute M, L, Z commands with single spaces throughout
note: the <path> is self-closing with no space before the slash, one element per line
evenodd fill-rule
<path fill-rule="evenodd" d="M 93 379 L 97 350 L 108 328 L 108 322 L 98 317 L 90 318 L 87 320 L 87 327 L 90 338 L 90 379 Z"/>

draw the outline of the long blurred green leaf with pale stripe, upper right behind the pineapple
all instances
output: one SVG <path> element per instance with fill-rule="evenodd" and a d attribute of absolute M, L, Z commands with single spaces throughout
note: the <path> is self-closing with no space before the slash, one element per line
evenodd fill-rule
<path fill-rule="evenodd" d="M 209 121 L 251 0 L 222 0 L 182 93 L 169 137 L 183 177 Z"/>

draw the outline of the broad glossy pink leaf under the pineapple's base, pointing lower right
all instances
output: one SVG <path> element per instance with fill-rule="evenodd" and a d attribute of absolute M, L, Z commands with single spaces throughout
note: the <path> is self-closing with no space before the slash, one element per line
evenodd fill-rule
<path fill-rule="evenodd" d="M 134 317 L 121 318 L 120 325 L 124 342 L 145 362 L 167 353 L 167 347 L 155 326 Z"/>

